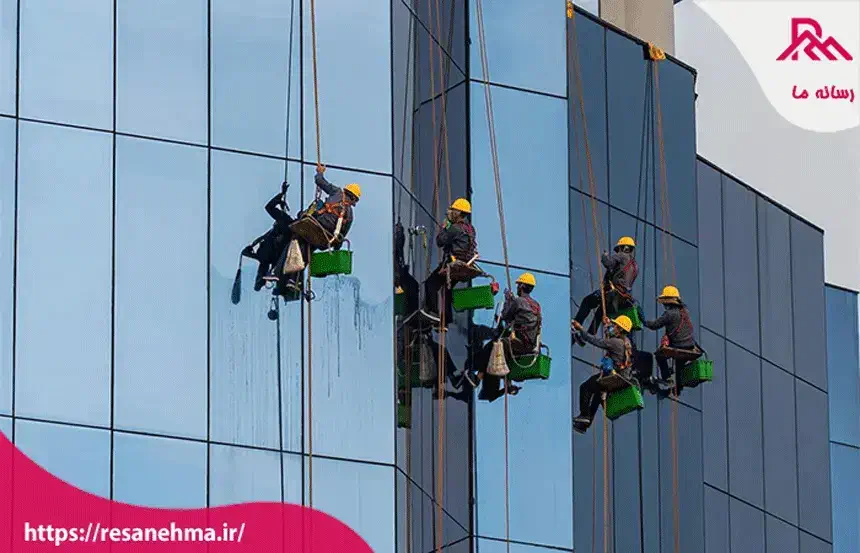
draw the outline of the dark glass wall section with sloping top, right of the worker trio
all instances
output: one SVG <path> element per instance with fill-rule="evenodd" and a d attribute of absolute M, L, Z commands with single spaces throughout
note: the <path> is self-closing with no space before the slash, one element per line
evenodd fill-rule
<path fill-rule="evenodd" d="M 715 360 L 702 387 L 706 550 L 831 551 L 830 344 L 840 321 L 856 383 L 856 298 L 849 331 L 825 298 L 819 228 L 706 160 L 697 180 L 702 345 Z"/>

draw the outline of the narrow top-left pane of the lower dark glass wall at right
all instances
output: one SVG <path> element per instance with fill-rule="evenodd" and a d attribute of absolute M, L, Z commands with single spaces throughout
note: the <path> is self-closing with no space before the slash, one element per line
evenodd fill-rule
<path fill-rule="evenodd" d="M 698 166 L 699 287 L 702 325 L 725 333 L 723 288 L 723 188 L 722 175 L 706 163 Z"/>

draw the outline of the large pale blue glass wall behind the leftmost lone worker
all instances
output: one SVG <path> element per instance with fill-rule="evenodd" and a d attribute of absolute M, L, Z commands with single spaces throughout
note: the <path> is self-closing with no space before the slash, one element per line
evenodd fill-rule
<path fill-rule="evenodd" d="M 312 502 L 394 551 L 391 58 L 388 2 L 0 1 L 0 431 L 105 497 Z M 353 271 L 272 321 L 239 253 L 318 143 Z"/>

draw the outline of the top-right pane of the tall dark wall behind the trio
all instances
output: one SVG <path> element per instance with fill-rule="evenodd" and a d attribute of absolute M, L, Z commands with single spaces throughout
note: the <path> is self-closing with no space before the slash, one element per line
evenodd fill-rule
<path fill-rule="evenodd" d="M 641 48 L 641 46 L 640 46 Z M 655 75 L 655 89 L 659 86 L 663 126 L 663 150 L 666 162 L 666 182 L 660 169 L 659 131 L 655 111 L 654 167 L 657 175 L 657 193 L 665 194 L 666 205 L 658 201 L 657 225 L 670 230 L 675 236 L 696 242 L 696 106 L 693 73 L 675 62 L 660 63 Z M 657 102 L 657 91 L 655 99 Z M 656 107 L 655 107 L 656 109 Z M 665 188 L 664 188 L 665 185 Z M 665 210 L 665 212 L 664 212 Z"/>

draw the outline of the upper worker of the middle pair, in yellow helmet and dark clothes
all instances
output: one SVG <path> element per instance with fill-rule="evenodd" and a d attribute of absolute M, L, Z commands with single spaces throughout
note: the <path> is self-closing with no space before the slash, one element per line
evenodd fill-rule
<path fill-rule="evenodd" d="M 442 260 L 439 266 L 430 273 L 424 281 L 424 309 L 421 314 L 438 324 L 439 318 L 439 291 L 446 286 L 447 276 L 445 270 L 451 263 L 472 263 L 478 256 L 478 241 L 475 228 L 469 223 L 472 213 L 472 204 L 465 198 L 457 198 L 451 207 L 442 228 L 436 235 L 436 245 L 442 248 Z M 452 283 L 453 284 L 453 283 Z M 451 291 L 445 291 L 445 326 L 451 322 L 453 312 L 451 308 Z"/>

